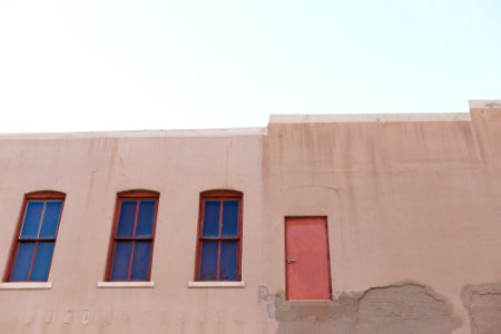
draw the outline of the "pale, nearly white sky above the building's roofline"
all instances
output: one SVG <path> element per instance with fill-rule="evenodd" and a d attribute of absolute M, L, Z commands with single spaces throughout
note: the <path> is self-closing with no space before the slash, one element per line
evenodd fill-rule
<path fill-rule="evenodd" d="M 0 0 L 0 132 L 501 99 L 500 0 Z"/>

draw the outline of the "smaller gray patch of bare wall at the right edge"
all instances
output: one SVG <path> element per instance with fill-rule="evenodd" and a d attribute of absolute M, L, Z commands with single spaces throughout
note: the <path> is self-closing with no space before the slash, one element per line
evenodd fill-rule
<path fill-rule="evenodd" d="M 468 285 L 461 297 L 470 314 L 472 334 L 501 332 L 501 283 Z"/>

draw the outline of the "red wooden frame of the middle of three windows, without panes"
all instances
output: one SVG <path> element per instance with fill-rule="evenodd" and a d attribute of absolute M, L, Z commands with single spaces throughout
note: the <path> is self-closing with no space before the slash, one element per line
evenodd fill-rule
<path fill-rule="evenodd" d="M 158 213 L 158 202 L 160 198 L 160 194 L 153 190 L 126 190 L 120 191 L 117 194 L 117 202 L 115 205 L 115 214 L 114 214 L 114 224 L 111 228 L 111 236 L 109 242 L 109 249 L 108 249 L 108 261 L 107 261 L 107 267 L 106 267 L 106 274 L 105 274 L 105 281 L 107 282 L 149 282 L 151 279 L 151 264 L 153 264 L 153 255 L 155 249 L 155 230 L 157 227 L 157 213 Z M 150 237 L 120 237 L 117 236 L 118 232 L 118 223 L 120 219 L 120 209 L 121 204 L 124 200 L 138 200 L 138 206 L 140 200 L 155 200 L 155 209 L 154 209 L 154 218 L 153 218 L 153 226 L 151 226 L 151 236 Z M 138 219 L 138 212 L 139 208 L 136 207 L 136 217 L 134 222 L 134 234 L 136 232 L 137 227 L 137 219 Z M 114 262 L 115 262 L 115 246 L 118 240 L 130 240 L 132 242 L 132 250 L 130 253 L 129 257 L 129 269 L 127 274 L 127 279 L 112 279 L 112 269 L 114 269 Z M 132 267 L 132 259 L 134 259 L 134 247 L 136 242 L 150 242 L 151 248 L 149 253 L 149 263 L 148 263 L 148 269 L 147 269 L 147 278 L 145 279 L 131 279 L 131 267 Z"/>

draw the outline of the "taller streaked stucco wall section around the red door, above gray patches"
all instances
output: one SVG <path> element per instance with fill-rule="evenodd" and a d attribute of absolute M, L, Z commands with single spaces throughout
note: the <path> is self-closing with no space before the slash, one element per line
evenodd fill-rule
<path fill-rule="evenodd" d="M 285 286 L 283 216 L 327 216 L 334 295 L 411 279 L 452 305 L 458 321 L 436 333 L 471 333 L 462 289 L 501 278 L 501 108 L 454 120 L 298 118 L 272 119 L 264 139 L 269 291 Z"/>

